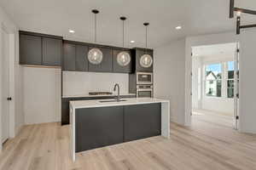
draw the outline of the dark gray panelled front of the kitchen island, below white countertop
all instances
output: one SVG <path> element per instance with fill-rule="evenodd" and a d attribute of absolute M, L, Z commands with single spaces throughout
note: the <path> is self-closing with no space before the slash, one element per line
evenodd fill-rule
<path fill-rule="evenodd" d="M 76 152 L 158 136 L 161 104 L 76 109 Z"/>

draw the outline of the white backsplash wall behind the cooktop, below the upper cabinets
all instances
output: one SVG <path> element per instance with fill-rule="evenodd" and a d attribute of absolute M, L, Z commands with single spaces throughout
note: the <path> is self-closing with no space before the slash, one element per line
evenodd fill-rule
<path fill-rule="evenodd" d="M 129 74 L 63 71 L 63 96 L 113 92 L 115 83 L 119 83 L 120 94 L 128 94 Z"/>

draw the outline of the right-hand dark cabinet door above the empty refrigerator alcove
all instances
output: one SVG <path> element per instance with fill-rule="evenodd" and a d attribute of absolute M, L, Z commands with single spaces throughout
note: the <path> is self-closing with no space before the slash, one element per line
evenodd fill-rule
<path fill-rule="evenodd" d="M 43 37 L 43 65 L 61 66 L 62 40 Z"/>

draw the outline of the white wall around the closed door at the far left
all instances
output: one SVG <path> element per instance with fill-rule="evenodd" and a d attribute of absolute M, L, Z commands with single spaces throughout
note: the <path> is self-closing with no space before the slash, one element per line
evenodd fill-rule
<path fill-rule="evenodd" d="M 23 113 L 23 103 L 22 103 L 22 67 L 19 65 L 19 32 L 18 27 L 15 23 L 9 19 L 9 16 L 0 7 L 0 26 L 4 27 L 10 34 L 11 42 L 15 44 L 12 47 L 10 54 L 10 95 L 13 98 L 11 101 L 11 111 L 14 115 L 11 116 L 13 123 L 15 124 L 14 132 L 11 132 L 11 137 L 14 137 L 16 133 L 20 130 L 20 127 L 24 124 L 24 113 Z M 2 38 L 0 38 L 0 44 L 2 44 Z"/>

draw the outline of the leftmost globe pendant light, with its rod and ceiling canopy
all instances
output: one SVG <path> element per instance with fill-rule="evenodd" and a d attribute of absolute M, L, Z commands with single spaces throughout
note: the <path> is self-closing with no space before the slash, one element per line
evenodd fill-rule
<path fill-rule="evenodd" d="M 96 43 L 96 14 L 98 14 L 99 11 L 96 9 L 93 9 L 91 12 L 95 15 L 94 42 Z M 103 59 L 102 51 L 99 48 L 91 48 L 90 51 L 88 52 L 88 59 L 89 59 L 90 63 L 93 65 L 101 64 L 102 59 Z"/>

